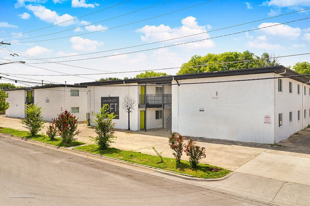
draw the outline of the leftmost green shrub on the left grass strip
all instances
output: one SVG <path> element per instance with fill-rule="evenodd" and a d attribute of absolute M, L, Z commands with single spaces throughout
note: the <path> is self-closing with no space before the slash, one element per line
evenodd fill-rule
<path fill-rule="evenodd" d="M 25 113 L 26 118 L 22 119 L 21 122 L 26 125 L 29 129 L 29 134 L 36 135 L 43 128 L 43 117 L 42 117 L 42 107 L 38 107 L 37 104 L 26 105 Z"/>

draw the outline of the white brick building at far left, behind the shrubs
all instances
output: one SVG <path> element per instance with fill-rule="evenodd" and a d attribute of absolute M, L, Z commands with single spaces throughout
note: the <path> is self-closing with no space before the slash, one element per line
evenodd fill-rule
<path fill-rule="evenodd" d="M 6 110 L 8 117 L 25 118 L 26 105 L 33 103 L 44 109 L 42 116 L 47 121 L 56 118 L 57 114 L 65 110 L 73 113 L 78 121 L 86 120 L 86 87 L 60 84 L 5 89 L 5 91 L 9 93 L 6 99 L 10 103 L 10 108 Z"/>

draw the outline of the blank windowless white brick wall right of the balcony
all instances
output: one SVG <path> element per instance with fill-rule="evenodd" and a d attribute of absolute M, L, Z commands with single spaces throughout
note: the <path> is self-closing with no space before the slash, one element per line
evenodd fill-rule
<path fill-rule="evenodd" d="M 273 73 L 186 79 L 179 83 L 272 76 Z M 263 122 L 265 115 L 272 117 L 271 124 Z M 274 143 L 274 125 L 273 79 L 172 86 L 172 131 L 181 135 Z"/>

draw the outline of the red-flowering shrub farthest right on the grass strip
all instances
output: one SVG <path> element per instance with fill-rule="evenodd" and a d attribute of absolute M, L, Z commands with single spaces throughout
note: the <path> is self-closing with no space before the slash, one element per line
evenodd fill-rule
<path fill-rule="evenodd" d="M 206 157 L 206 148 L 196 146 L 192 138 L 189 138 L 184 151 L 186 152 L 186 155 L 189 156 L 189 163 L 192 168 L 197 167 L 199 160 Z"/>

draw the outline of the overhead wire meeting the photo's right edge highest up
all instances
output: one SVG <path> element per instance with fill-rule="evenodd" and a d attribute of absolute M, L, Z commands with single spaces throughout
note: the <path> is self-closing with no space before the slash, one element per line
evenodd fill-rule
<path fill-rule="evenodd" d="M 61 57 L 51 57 L 51 58 L 38 58 L 38 59 L 33 59 L 33 60 L 39 60 L 39 59 L 56 59 L 56 58 L 65 58 L 65 57 L 75 57 L 75 56 L 82 56 L 82 55 L 88 55 L 88 54 L 98 54 L 98 53 L 103 53 L 103 52 L 109 52 L 109 51 L 115 51 L 115 50 L 121 50 L 121 49 L 129 49 L 129 48 L 134 48 L 134 47 L 138 47 L 138 46 L 145 46 L 145 45 L 150 45 L 150 44 L 156 44 L 156 43 L 161 43 L 161 42 L 165 42 L 165 41 L 171 41 L 171 40 L 176 40 L 176 39 L 181 39 L 181 38 L 185 38 L 185 37 L 189 37 L 189 36 L 195 36 L 195 35 L 199 35 L 199 34 L 204 34 L 204 33 L 209 33 L 209 32 L 215 32 L 215 31 L 219 31 L 219 30 L 223 30 L 223 29 L 227 29 L 227 28 L 233 28 L 233 27 L 237 27 L 237 26 L 242 26 L 242 25 L 246 25 L 246 24 L 251 24 L 254 22 L 258 22 L 258 21 L 263 21 L 266 19 L 272 19 L 272 18 L 276 18 L 279 16 L 284 16 L 284 15 L 289 15 L 289 14 L 293 14 L 296 12 L 301 12 L 301 11 L 306 11 L 309 10 L 308 9 L 303 9 L 303 10 L 299 10 L 299 11 L 294 11 L 294 12 L 290 12 L 290 13 L 286 13 L 286 14 L 282 14 L 282 15 L 278 15 L 278 16 L 273 16 L 273 17 L 269 17 L 269 18 L 265 18 L 265 19 L 259 19 L 259 20 L 255 20 L 255 21 L 251 21 L 251 22 L 247 22 L 247 23 L 243 23 L 243 24 L 237 24 L 237 25 L 233 25 L 233 26 L 229 26 L 229 27 L 224 27 L 224 28 L 219 28 L 219 29 L 215 29 L 215 30 L 210 30 L 207 32 L 201 32 L 201 33 L 197 33 L 197 34 L 192 34 L 192 35 L 188 35 L 188 36 L 180 36 L 177 38 L 173 38 L 173 39 L 167 39 L 167 40 L 162 40 L 162 41 L 156 41 L 156 42 L 151 42 L 151 43 L 147 43 L 147 44 L 140 44 L 140 45 L 134 45 L 134 46 L 129 46 L 129 47 L 122 47 L 122 48 L 118 48 L 118 49 L 111 49 L 111 50 L 105 50 L 105 51 L 99 51 L 99 52 L 92 52 L 92 53 L 86 53 L 86 54 L 76 54 L 76 55 L 68 55 L 68 56 L 61 56 Z M 21 59 L 23 60 L 23 59 Z"/>

